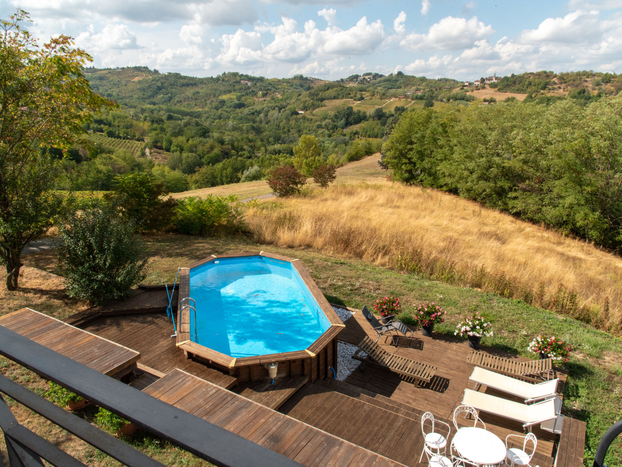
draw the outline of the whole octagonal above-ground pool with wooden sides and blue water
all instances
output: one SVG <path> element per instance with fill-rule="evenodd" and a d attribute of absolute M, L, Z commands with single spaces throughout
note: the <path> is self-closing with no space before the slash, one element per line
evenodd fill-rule
<path fill-rule="evenodd" d="M 287 375 L 304 384 L 337 370 L 344 324 L 300 260 L 211 255 L 179 277 L 177 347 L 188 358 L 238 381 Z"/>

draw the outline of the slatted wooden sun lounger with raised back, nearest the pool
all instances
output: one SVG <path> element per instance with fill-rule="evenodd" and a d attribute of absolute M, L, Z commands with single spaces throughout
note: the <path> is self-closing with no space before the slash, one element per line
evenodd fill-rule
<path fill-rule="evenodd" d="M 432 379 L 436 373 L 436 367 L 432 365 L 420 363 L 395 354 L 389 354 L 389 352 L 376 344 L 376 342 L 368 336 L 365 336 L 358 346 L 360 349 L 355 352 L 352 358 L 362 362 L 363 369 L 365 365 L 386 368 L 392 372 L 410 376 L 427 383 L 430 382 L 430 379 Z M 360 357 L 359 353 L 361 351 L 366 352 L 368 357 Z"/>

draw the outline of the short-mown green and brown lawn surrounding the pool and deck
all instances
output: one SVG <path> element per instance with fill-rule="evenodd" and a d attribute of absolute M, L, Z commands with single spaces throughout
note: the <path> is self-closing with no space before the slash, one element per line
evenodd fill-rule
<path fill-rule="evenodd" d="M 515 354 L 535 357 L 527 352 L 527 345 L 538 333 L 555 334 L 569 341 L 574 351 L 564 366 L 569 370 L 569 380 L 565 389 L 563 412 L 587 422 L 585 466 L 591 466 L 600 436 L 616 421 L 622 413 L 622 347 L 621 339 L 596 331 L 575 319 L 567 318 L 549 311 L 527 305 L 521 300 L 509 300 L 483 293 L 471 288 L 446 285 L 437 281 L 425 280 L 417 276 L 398 273 L 377 267 L 361 260 L 338 258 L 307 248 L 279 248 L 272 245 L 259 245 L 252 239 L 240 235 L 233 238 L 198 238 L 176 234 L 160 234 L 144 237 L 147 254 L 151 258 L 151 270 L 146 280 L 148 284 L 172 282 L 178 267 L 186 266 L 212 253 L 236 253 L 266 250 L 289 257 L 300 258 L 309 270 L 322 292 L 330 301 L 345 303 L 361 308 L 368 306 L 379 297 L 394 294 L 402 300 L 407 311 L 412 304 L 434 301 L 448 312 L 445 323 L 437 326 L 440 333 L 453 335 L 455 324 L 466 314 L 479 311 L 493 323 L 494 337 L 483 339 L 483 346 L 491 346 Z M 86 304 L 64 295 L 62 279 L 50 273 L 62 274 L 55 257 L 50 252 L 35 253 L 24 257 L 29 267 L 28 274 L 22 278 L 22 290 L 3 294 L 4 301 L 0 314 L 9 313 L 23 306 L 39 308 L 53 316 L 67 316 Z M 36 269 L 35 269 L 36 268 Z M 46 273 L 37 270 L 47 271 Z M 39 278 L 37 278 L 37 274 Z M 47 281 L 40 276 L 45 276 Z M 32 283 L 31 283 L 32 282 Z M 47 287 L 53 290 L 48 290 Z M 60 287 L 60 289 L 59 289 Z M 53 298 L 54 306 L 46 308 L 46 297 Z M 33 303 L 37 305 L 33 305 Z M 16 379 L 31 389 L 42 392 L 45 383 L 36 375 L 13 362 L 0 361 L 0 372 Z M 83 446 L 67 433 L 44 422 L 35 423 L 39 418 L 29 410 L 16 409 L 22 422 L 37 432 L 48 433 L 51 438 L 60 436 L 61 446 L 70 446 L 75 455 L 88 454 L 89 465 L 114 465 L 105 456 Z M 86 411 L 85 417 L 92 413 Z M 139 434 L 128 440 L 149 455 L 167 465 L 205 465 L 164 441 Z M 3 446 L 0 444 L 0 448 Z M 606 464 L 610 467 L 622 466 L 622 445 L 616 440 L 610 448 Z"/>

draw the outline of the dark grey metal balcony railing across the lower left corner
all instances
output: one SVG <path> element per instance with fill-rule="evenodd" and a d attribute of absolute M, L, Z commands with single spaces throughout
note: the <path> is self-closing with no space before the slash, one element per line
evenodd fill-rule
<path fill-rule="evenodd" d="M 2 326 L 0 354 L 216 466 L 300 467 L 299 463 L 285 456 L 101 374 Z M 132 446 L 6 377 L 0 376 L 0 392 L 126 466 L 162 466 Z M 4 399 L 0 400 L 0 428 L 7 441 L 11 467 L 41 466 L 40 458 L 58 467 L 84 465 L 20 425 Z"/>

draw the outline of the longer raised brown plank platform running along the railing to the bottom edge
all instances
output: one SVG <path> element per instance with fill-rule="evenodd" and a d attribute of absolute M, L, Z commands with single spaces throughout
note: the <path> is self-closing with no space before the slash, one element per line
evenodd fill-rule
<path fill-rule="evenodd" d="M 241 395 L 174 370 L 144 392 L 309 467 L 399 464 Z"/>

